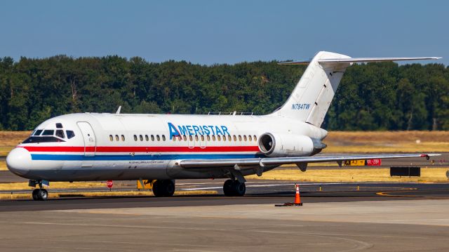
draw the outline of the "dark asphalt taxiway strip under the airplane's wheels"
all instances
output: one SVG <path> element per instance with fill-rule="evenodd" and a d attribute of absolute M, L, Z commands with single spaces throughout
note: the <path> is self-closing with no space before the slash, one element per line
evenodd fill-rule
<path fill-rule="evenodd" d="M 321 187 L 321 191 L 320 191 Z M 385 201 L 398 199 L 449 199 L 449 183 L 300 183 L 302 201 L 349 202 Z M 177 183 L 177 190 L 216 190 L 216 195 L 156 197 L 80 197 L 73 196 L 33 201 L 32 199 L 1 200 L 1 211 L 48 211 L 88 208 L 133 208 L 164 206 L 217 206 L 241 204 L 280 204 L 293 201 L 292 181 L 249 180 L 245 197 L 224 197 L 222 181 L 187 180 Z M 105 191 L 105 188 L 102 188 Z M 49 190 L 50 194 L 69 190 Z M 31 190 L 27 190 L 31 194 Z"/>

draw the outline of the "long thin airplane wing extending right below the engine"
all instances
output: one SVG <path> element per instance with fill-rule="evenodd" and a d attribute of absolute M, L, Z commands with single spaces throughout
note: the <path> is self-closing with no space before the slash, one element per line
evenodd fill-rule
<path fill-rule="evenodd" d="M 236 165 L 245 166 L 281 166 L 283 164 L 308 164 L 318 162 L 336 161 L 342 164 L 343 161 L 365 160 L 365 159 L 403 159 L 408 157 L 425 157 L 441 154 L 379 154 L 360 156 L 328 156 L 328 157 L 264 157 L 251 159 L 185 159 L 180 161 L 183 168 L 233 168 Z"/>

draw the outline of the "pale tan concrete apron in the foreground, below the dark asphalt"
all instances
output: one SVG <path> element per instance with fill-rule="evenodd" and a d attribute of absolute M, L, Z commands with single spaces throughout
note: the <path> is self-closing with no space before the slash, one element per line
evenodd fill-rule
<path fill-rule="evenodd" d="M 449 249 L 448 199 L 8 211 L 0 223 L 1 251 Z"/>

